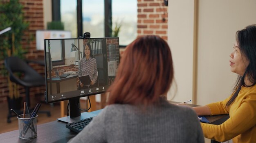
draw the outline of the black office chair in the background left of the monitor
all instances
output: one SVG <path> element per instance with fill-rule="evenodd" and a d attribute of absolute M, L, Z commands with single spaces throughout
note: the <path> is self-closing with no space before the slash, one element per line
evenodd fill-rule
<path fill-rule="evenodd" d="M 38 74 L 31 66 L 29 66 L 25 61 L 22 59 L 11 56 L 4 60 L 4 65 L 9 72 L 9 78 L 11 82 L 15 82 L 18 85 L 22 85 L 25 88 L 26 92 L 26 102 L 27 105 L 30 107 L 30 98 L 29 98 L 29 88 L 30 87 L 40 87 L 45 85 L 45 78 Z M 19 78 L 14 75 L 15 72 L 21 72 L 22 78 Z M 50 111 L 38 111 L 38 113 L 46 113 L 47 116 L 51 116 Z M 10 123 L 11 117 L 16 117 L 13 115 L 11 111 L 7 116 L 7 122 Z"/>

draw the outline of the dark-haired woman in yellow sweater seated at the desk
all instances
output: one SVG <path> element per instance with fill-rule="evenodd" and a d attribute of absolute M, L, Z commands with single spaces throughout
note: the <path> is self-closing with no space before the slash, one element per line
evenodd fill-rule
<path fill-rule="evenodd" d="M 238 74 L 229 98 L 193 108 L 198 115 L 229 114 L 221 125 L 201 123 L 204 137 L 219 142 L 256 143 L 256 25 L 236 32 L 230 56 L 231 72 Z"/>

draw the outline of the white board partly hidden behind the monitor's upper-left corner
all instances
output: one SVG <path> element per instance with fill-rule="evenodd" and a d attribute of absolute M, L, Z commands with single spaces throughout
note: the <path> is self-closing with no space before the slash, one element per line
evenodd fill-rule
<path fill-rule="evenodd" d="M 71 32 L 65 30 L 36 30 L 36 50 L 44 50 L 44 39 L 71 38 Z"/>

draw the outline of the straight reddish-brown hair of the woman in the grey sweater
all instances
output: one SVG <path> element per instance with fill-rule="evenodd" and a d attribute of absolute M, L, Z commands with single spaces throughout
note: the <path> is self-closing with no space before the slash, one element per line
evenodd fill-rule
<path fill-rule="evenodd" d="M 123 53 L 108 104 L 152 104 L 173 81 L 171 50 L 159 36 L 138 37 Z"/>

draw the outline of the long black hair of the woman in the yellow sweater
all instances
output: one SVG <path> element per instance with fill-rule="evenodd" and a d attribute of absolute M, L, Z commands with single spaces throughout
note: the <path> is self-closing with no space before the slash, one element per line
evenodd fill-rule
<path fill-rule="evenodd" d="M 243 76 L 238 75 L 233 89 L 233 95 L 227 102 L 226 107 L 234 102 L 243 85 L 248 86 L 245 84 L 246 76 L 253 85 L 255 85 L 256 82 L 256 25 L 249 25 L 243 30 L 238 30 L 236 32 L 236 41 L 241 54 L 248 59 L 249 65 Z"/>

